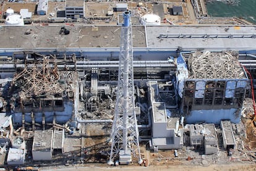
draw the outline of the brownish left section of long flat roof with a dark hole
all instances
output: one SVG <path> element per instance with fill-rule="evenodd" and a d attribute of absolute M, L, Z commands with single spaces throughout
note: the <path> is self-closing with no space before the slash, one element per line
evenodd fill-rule
<path fill-rule="evenodd" d="M 63 25 L 0 28 L 1 48 L 119 48 L 121 26 L 65 26 L 69 35 L 59 35 Z M 30 35 L 25 32 L 30 29 Z M 137 26 L 132 31 L 134 47 L 145 47 L 145 30 Z"/>

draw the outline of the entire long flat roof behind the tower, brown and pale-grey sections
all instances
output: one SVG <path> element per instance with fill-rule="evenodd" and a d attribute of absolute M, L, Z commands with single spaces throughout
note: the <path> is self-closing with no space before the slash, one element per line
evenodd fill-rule
<path fill-rule="evenodd" d="M 119 48 L 120 25 L 1 26 L 1 48 Z M 32 30 L 30 35 L 24 33 Z M 256 49 L 255 25 L 160 25 L 132 26 L 133 46 L 138 48 Z M 169 35 L 170 38 L 160 38 Z M 216 37 L 218 36 L 218 37 Z M 242 38 L 244 36 L 244 38 Z"/>

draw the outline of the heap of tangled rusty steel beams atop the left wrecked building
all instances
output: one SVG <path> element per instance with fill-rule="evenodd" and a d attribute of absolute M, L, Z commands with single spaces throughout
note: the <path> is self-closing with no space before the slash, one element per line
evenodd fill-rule
<path fill-rule="evenodd" d="M 52 69 L 49 63 L 49 57 L 43 57 L 42 63 L 27 65 L 12 80 L 12 90 L 19 94 L 21 99 L 62 94 L 66 88 L 65 81 L 69 74 L 60 74 L 57 65 L 54 64 Z"/>

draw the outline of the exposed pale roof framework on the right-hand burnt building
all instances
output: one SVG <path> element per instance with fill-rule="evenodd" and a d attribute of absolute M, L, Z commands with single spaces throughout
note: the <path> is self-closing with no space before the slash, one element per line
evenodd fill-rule
<path fill-rule="evenodd" d="M 189 78 L 246 78 L 238 61 L 238 52 L 194 52 L 188 60 Z"/>

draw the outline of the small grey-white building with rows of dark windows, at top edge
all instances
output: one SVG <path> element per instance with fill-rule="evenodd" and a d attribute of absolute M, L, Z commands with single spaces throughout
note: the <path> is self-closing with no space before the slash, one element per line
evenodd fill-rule
<path fill-rule="evenodd" d="M 77 19 L 85 16 L 85 2 L 83 0 L 66 1 L 66 17 Z"/>

